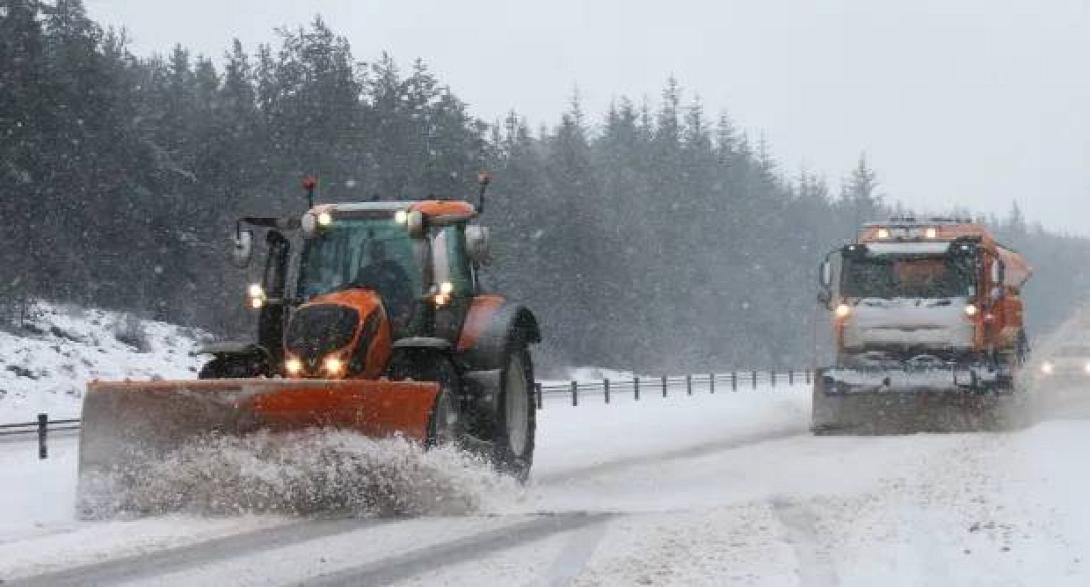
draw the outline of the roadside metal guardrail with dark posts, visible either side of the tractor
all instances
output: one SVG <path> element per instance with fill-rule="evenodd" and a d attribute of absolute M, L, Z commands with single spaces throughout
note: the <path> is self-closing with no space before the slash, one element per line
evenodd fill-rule
<path fill-rule="evenodd" d="M 537 409 L 545 406 L 545 398 L 569 396 L 571 405 L 578 406 L 581 396 L 602 395 L 605 403 L 618 395 L 630 395 L 640 401 L 641 395 L 649 393 L 668 398 L 671 393 L 692 395 L 695 392 L 716 393 L 755 390 L 763 383 L 775 388 L 777 384 L 791 386 L 810 383 L 812 371 L 807 370 L 744 370 L 704 375 L 678 375 L 659 377 L 633 377 L 626 379 L 602 379 L 598 381 L 569 381 L 564 383 L 535 382 L 534 400 Z M 38 437 L 38 458 L 49 457 L 49 432 L 80 429 L 80 418 L 49 419 L 48 414 L 38 414 L 36 421 L 0 424 L 0 440 L 5 437 L 34 436 Z"/>

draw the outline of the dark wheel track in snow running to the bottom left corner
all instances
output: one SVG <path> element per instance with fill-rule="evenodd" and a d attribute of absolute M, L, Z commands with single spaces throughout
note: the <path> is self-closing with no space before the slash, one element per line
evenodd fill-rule
<path fill-rule="evenodd" d="M 244 557 L 263 550 L 316 540 L 370 526 L 395 524 L 402 519 L 307 519 L 275 528 L 263 528 L 234 536 L 215 538 L 185 547 L 110 559 L 100 563 L 73 566 L 24 578 L 11 579 L 4 583 L 4 586 L 109 585 L 149 579 L 158 575 L 206 565 L 210 562 Z"/>

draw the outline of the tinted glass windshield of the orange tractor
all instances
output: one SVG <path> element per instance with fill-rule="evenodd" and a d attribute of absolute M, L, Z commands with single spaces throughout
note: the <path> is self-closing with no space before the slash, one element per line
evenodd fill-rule
<path fill-rule="evenodd" d="M 344 288 L 371 288 L 400 314 L 423 291 L 423 272 L 404 224 L 392 217 L 335 218 L 303 245 L 299 295 L 308 299 Z"/>

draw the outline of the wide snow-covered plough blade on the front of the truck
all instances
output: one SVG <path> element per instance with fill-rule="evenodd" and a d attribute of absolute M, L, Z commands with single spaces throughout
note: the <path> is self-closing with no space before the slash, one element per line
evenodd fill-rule
<path fill-rule="evenodd" d="M 1025 394 L 958 384 L 953 371 L 819 369 L 811 430 L 816 435 L 898 435 L 1003 430 L 1028 416 Z"/>

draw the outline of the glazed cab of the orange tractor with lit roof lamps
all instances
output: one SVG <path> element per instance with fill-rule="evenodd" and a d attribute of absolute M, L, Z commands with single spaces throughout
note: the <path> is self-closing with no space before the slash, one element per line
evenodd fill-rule
<path fill-rule="evenodd" d="M 477 293 L 487 231 L 464 201 L 331 204 L 303 217 L 295 299 L 366 289 L 382 299 L 393 339 L 450 342 Z"/>

